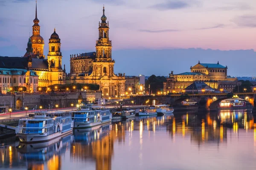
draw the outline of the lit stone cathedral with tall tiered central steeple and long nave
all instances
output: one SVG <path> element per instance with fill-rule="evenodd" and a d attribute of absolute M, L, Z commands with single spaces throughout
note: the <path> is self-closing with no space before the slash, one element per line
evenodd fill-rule
<path fill-rule="evenodd" d="M 70 77 L 67 83 L 97 84 L 103 96 L 121 96 L 125 94 L 125 74 L 114 74 L 115 60 L 111 55 L 112 45 L 106 20 L 103 7 L 96 52 L 70 55 Z"/>

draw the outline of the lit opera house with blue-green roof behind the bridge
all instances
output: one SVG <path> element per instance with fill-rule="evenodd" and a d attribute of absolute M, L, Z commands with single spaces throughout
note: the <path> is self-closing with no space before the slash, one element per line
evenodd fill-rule
<path fill-rule="evenodd" d="M 181 74 L 169 74 L 167 81 L 163 83 L 163 92 L 166 94 L 182 92 L 193 82 L 204 82 L 209 87 L 225 91 L 232 91 L 237 85 L 241 85 L 235 77 L 227 76 L 227 66 L 214 63 L 200 63 L 190 67 L 190 72 Z"/>

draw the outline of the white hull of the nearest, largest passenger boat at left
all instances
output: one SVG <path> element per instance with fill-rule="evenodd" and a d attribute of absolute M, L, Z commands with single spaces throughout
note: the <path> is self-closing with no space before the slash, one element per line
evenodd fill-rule
<path fill-rule="evenodd" d="M 23 143 L 40 143 L 40 142 L 48 142 L 52 139 L 61 137 L 61 136 L 66 136 L 69 134 L 72 134 L 73 130 L 68 130 L 66 132 L 57 132 L 57 133 L 53 133 L 51 135 L 48 136 L 42 136 L 39 133 L 37 134 L 21 134 L 21 133 L 17 133 L 17 137 L 20 139 L 20 142 Z"/>

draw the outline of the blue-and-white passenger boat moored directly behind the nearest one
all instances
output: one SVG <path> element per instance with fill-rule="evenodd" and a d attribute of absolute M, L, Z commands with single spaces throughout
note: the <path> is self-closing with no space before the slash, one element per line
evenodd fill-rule
<path fill-rule="evenodd" d="M 83 105 L 77 111 L 71 111 L 75 128 L 89 128 L 111 122 L 109 109 L 101 106 Z"/>

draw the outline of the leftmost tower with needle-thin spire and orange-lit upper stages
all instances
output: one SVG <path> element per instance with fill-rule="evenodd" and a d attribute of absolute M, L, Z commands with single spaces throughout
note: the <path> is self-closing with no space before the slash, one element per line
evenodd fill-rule
<path fill-rule="evenodd" d="M 30 37 L 32 41 L 32 49 L 34 54 L 38 54 L 39 57 L 44 56 L 44 39 L 40 36 L 39 20 L 37 18 L 37 1 L 35 2 L 35 19 L 33 20 L 34 25 L 32 26 L 33 35 Z"/>

